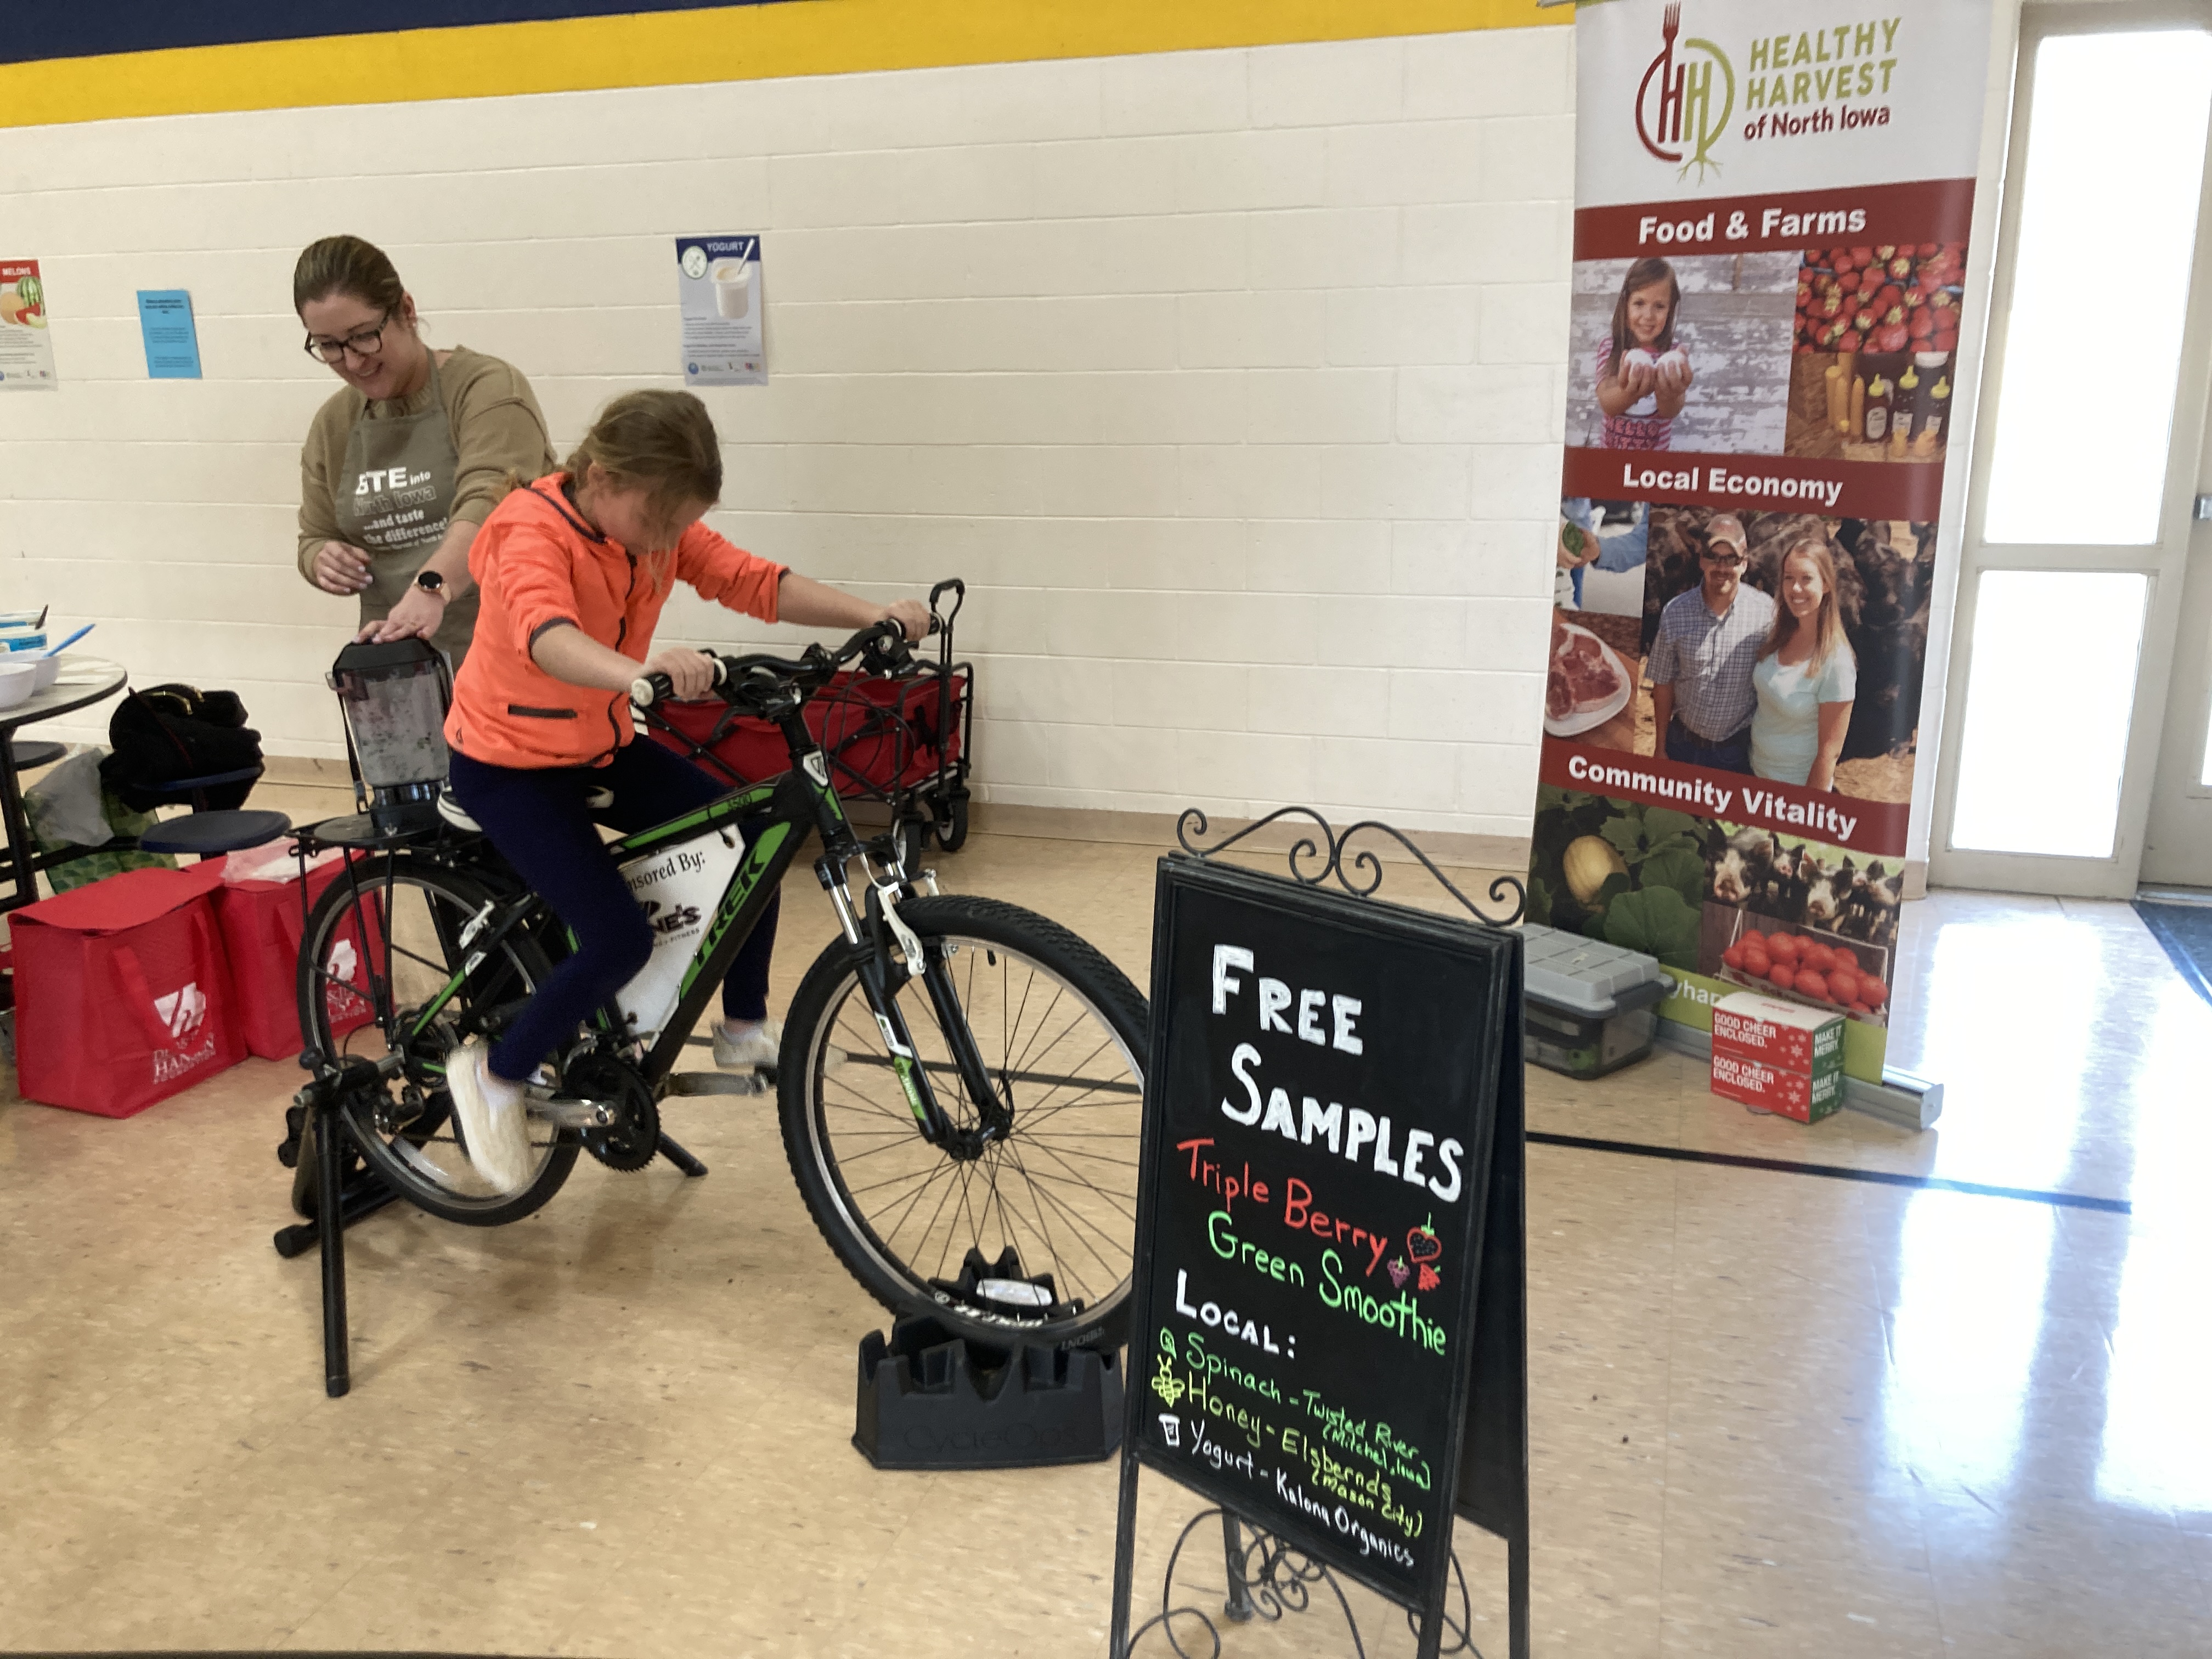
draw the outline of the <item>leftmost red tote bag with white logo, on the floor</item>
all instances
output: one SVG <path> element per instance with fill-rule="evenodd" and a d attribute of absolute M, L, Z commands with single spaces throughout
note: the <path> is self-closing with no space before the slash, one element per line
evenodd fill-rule
<path fill-rule="evenodd" d="M 131 1117 L 246 1057 L 215 918 L 221 878 L 212 860 L 126 869 L 15 911 L 27 1099 Z"/>

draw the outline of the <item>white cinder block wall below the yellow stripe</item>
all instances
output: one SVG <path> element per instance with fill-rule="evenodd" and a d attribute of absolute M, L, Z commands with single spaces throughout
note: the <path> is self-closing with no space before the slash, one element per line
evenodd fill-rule
<path fill-rule="evenodd" d="M 299 248 L 383 243 L 571 442 L 677 385 L 677 232 L 761 230 L 772 385 L 717 529 L 969 580 L 998 803 L 1526 832 L 1573 197 L 1568 29 L 18 128 L 0 252 L 60 394 L 0 396 L 0 602 L 336 754 L 349 606 L 292 568 L 336 380 Z M 148 383 L 188 288 L 206 380 Z M 668 630 L 768 630 L 688 597 Z M 51 730 L 97 739 L 104 710 Z"/>

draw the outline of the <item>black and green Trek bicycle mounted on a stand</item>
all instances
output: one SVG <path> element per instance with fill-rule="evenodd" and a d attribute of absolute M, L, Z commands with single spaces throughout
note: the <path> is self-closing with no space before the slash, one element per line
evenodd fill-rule
<path fill-rule="evenodd" d="M 305 918 L 301 1064 L 323 1079 L 374 1064 L 374 1086 L 334 1093 L 334 1110 L 389 1188 L 447 1221 L 502 1225 L 535 1212 L 580 1150 L 615 1170 L 639 1170 L 657 1150 L 690 1164 L 664 1137 L 659 1106 L 688 1093 L 677 1071 L 699 1042 L 688 1033 L 818 836 L 814 874 L 838 936 L 792 998 L 772 1079 L 759 1077 L 776 1091 L 785 1157 L 816 1228 L 869 1294 L 953 1334 L 1121 1343 L 1144 995 L 1044 916 L 938 894 L 933 874 L 907 869 L 911 838 L 896 823 L 872 841 L 854 832 L 803 719 L 807 697 L 852 664 L 900 675 L 911 653 L 883 622 L 834 653 L 814 644 L 796 659 L 717 659 L 717 695 L 772 721 L 792 768 L 608 845 L 626 872 L 644 863 L 655 876 L 690 876 L 692 898 L 650 918 L 664 933 L 695 927 L 697 945 L 672 960 L 657 947 L 526 1088 L 535 1164 L 520 1190 L 491 1190 L 469 1164 L 445 1057 L 467 1037 L 495 1037 L 568 936 L 482 834 L 440 825 L 405 845 L 367 845 L 316 836 L 325 825 L 303 832 L 303 854 L 347 852 Z M 646 710 L 668 695 L 659 675 L 633 688 Z M 646 987 L 655 973 L 666 993 Z"/>

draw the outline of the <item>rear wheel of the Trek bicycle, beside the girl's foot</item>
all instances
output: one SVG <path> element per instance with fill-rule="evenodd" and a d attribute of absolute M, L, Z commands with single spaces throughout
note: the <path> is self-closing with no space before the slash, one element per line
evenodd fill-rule
<path fill-rule="evenodd" d="M 314 902 L 301 936 L 296 991 L 305 1044 L 330 1060 L 392 1053 L 414 982 L 431 987 L 451 978 L 460 967 L 458 925 L 489 902 L 491 891 L 480 883 L 407 854 L 363 858 L 352 880 L 341 874 Z M 522 931 L 509 933 L 453 1000 L 456 1013 L 440 1015 L 416 1042 L 392 1086 L 378 1097 L 349 1093 L 341 1104 L 363 1161 L 442 1221 L 465 1228 L 520 1221 L 560 1192 L 575 1168 L 575 1135 L 533 1124 L 535 1172 L 515 1192 L 493 1192 L 467 1161 L 442 1079 L 442 1053 L 456 1026 L 529 995 L 546 973 L 551 962 L 538 942 Z M 363 1004 L 367 1020 L 361 1020 Z"/>

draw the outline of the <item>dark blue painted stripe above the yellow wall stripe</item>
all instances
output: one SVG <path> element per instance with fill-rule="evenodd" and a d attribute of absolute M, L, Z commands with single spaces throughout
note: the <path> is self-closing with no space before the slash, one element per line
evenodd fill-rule
<path fill-rule="evenodd" d="M 487 22 L 619 18 L 641 11 L 708 11 L 781 0 L 100 0 L 31 4 L 9 13 L 0 64 L 108 58 L 170 46 L 239 46 L 252 40 L 383 35 L 398 29 L 458 29 Z M 343 64 L 332 66 L 343 77 Z"/>

